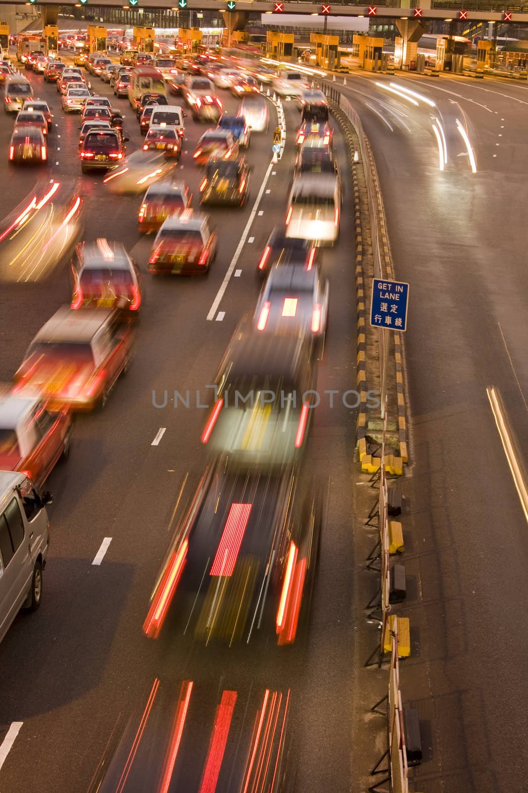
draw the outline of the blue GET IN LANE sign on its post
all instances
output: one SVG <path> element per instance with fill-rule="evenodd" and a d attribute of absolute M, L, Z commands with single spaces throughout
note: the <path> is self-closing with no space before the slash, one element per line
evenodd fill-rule
<path fill-rule="evenodd" d="M 381 417 L 386 413 L 386 374 L 389 357 L 389 331 L 407 330 L 408 283 L 387 281 L 383 278 L 372 280 L 372 300 L 370 301 L 370 325 L 380 328 L 380 396 Z"/>

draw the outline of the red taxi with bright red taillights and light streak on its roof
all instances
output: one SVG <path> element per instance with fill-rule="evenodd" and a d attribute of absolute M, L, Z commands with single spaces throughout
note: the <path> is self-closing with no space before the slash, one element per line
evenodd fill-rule
<path fill-rule="evenodd" d="M 139 272 L 122 243 L 97 239 L 79 244 L 76 254 L 70 308 L 117 308 L 123 316 L 139 316 Z"/>

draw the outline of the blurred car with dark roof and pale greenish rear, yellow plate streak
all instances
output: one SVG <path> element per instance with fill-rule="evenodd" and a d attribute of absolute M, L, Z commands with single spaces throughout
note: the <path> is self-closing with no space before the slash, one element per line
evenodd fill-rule
<path fill-rule="evenodd" d="M 216 401 L 202 433 L 209 454 L 264 471 L 298 460 L 313 408 L 303 395 L 317 385 L 313 335 L 261 333 L 242 318 L 215 380 Z"/>

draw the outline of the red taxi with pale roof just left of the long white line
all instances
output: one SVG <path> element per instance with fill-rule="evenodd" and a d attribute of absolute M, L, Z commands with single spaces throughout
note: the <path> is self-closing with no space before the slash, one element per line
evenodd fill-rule
<path fill-rule="evenodd" d="M 154 239 L 149 258 L 151 274 L 205 274 L 216 257 L 217 236 L 209 216 L 186 209 L 169 216 Z"/>

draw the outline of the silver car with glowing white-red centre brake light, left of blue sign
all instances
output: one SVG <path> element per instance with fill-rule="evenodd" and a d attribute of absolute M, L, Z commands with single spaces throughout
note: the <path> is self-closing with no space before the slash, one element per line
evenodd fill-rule
<path fill-rule="evenodd" d="M 258 331 L 325 335 L 329 308 L 329 282 L 321 283 L 317 267 L 304 264 L 275 265 L 260 294 L 253 318 Z"/>

